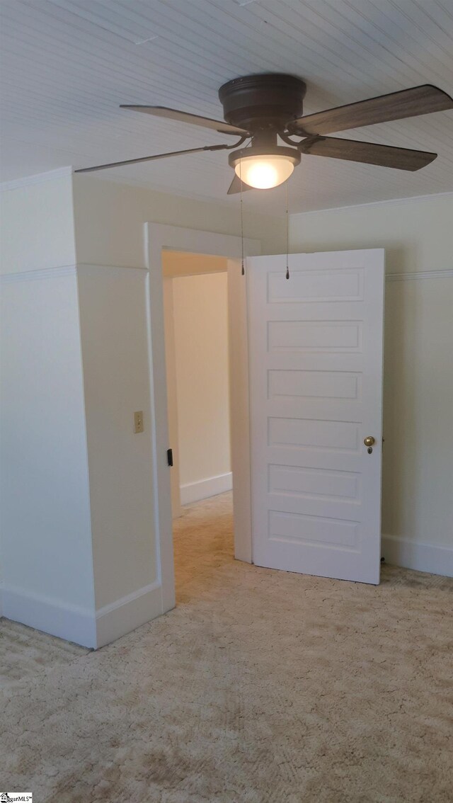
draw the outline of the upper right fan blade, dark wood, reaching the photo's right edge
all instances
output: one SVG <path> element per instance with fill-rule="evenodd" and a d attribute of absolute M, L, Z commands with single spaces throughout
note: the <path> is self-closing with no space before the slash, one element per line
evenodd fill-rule
<path fill-rule="evenodd" d="M 453 99 L 447 92 L 431 84 L 424 84 L 300 117 L 299 120 L 288 123 L 288 130 L 301 134 L 329 134 L 344 131 L 345 128 L 360 128 L 362 125 L 443 112 L 448 108 L 453 108 Z"/>

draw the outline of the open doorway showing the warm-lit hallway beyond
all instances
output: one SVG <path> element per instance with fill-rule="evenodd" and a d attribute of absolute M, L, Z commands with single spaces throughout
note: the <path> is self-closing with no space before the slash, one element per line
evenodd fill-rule
<path fill-rule="evenodd" d="M 228 260 L 162 253 L 176 599 L 234 558 Z"/>

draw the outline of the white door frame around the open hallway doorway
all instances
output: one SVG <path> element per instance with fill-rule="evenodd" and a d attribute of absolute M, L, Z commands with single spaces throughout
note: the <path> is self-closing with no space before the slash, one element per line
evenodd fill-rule
<path fill-rule="evenodd" d="M 154 530 L 161 581 L 162 613 L 175 605 L 173 520 L 167 463 L 169 448 L 165 365 L 165 320 L 161 253 L 188 251 L 222 256 L 228 265 L 230 336 L 231 468 L 235 498 L 235 557 L 251 563 L 251 469 L 248 412 L 247 283 L 240 267 L 242 241 L 231 234 L 145 222 L 145 259 L 149 271 L 149 377 L 153 431 Z M 259 240 L 244 239 L 244 255 L 258 256 Z M 233 369 L 234 366 L 234 369 Z"/>

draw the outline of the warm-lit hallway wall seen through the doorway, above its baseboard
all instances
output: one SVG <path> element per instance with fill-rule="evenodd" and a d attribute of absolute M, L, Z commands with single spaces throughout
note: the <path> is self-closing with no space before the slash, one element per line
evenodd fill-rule
<path fill-rule="evenodd" d="M 173 279 L 182 503 L 231 488 L 227 273 Z"/>

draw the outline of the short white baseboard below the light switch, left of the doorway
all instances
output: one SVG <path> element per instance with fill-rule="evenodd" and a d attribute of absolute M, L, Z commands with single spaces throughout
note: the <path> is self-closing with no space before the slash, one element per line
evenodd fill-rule
<path fill-rule="evenodd" d="M 136 630 L 162 613 L 161 582 L 122 597 L 96 612 L 96 646 L 103 647 L 116 638 Z"/>

